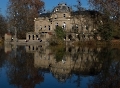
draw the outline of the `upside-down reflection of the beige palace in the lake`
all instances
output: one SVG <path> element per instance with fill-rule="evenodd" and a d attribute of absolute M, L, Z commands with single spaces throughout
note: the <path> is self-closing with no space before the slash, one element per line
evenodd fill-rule
<path fill-rule="evenodd" d="M 55 53 L 49 48 L 27 46 L 26 49 L 27 52 L 34 53 L 34 66 L 36 68 L 49 68 L 60 81 L 65 81 L 71 71 L 79 71 L 85 74 L 90 73 L 91 69 L 97 72 L 101 69 L 101 65 L 98 64 L 98 58 L 94 55 L 95 49 L 93 48 L 67 47 L 63 58 L 59 62 L 56 61 Z M 99 51 L 100 48 L 96 49 L 96 52 Z"/>

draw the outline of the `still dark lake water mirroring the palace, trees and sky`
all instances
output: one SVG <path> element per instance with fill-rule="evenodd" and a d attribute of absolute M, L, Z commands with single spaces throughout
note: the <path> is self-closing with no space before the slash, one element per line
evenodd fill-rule
<path fill-rule="evenodd" d="M 120 88 L 120 50 L 4 45 L 0 88 Z"/>

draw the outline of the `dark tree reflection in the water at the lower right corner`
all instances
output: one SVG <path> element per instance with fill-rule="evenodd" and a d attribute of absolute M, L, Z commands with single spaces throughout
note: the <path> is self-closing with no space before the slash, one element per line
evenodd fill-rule
<path fill-rule="evenodd" d="M 90 84 L 90 88 L 119 88 L 120 87 L 120 50 L 103 48 L 98 55 L 102 63 L 101 73 Z"/>

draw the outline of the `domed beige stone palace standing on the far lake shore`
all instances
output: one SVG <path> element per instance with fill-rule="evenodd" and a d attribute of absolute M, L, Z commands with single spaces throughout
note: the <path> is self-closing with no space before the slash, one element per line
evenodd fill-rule
<path fill-rule="evenodd" d="M 72 12 L 66 4 L 58 4 L 52 13 L 43 13 L 39 18 L 35 18 L 35 30 L 27 33 L 26 39 L 49 40 L 55 34 L 56 26 L 61 26 L 66 31 L 66 41 L 91 40 L 97 29 L 92 17 L 97 18 L 98 12 L 88 10 Z"/>

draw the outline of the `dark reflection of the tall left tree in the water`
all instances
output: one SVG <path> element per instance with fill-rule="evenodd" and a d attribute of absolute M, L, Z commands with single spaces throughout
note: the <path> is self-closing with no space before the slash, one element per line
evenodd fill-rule
<path fill-rule="evenodd" d="M 15 58 L 10 58 L 8 65 L 9 83 L 22 88 L 34 88 L 44 80 L 43 73 L 34 68 L 33 54 L 26 53 L 19 47 Z"/>

